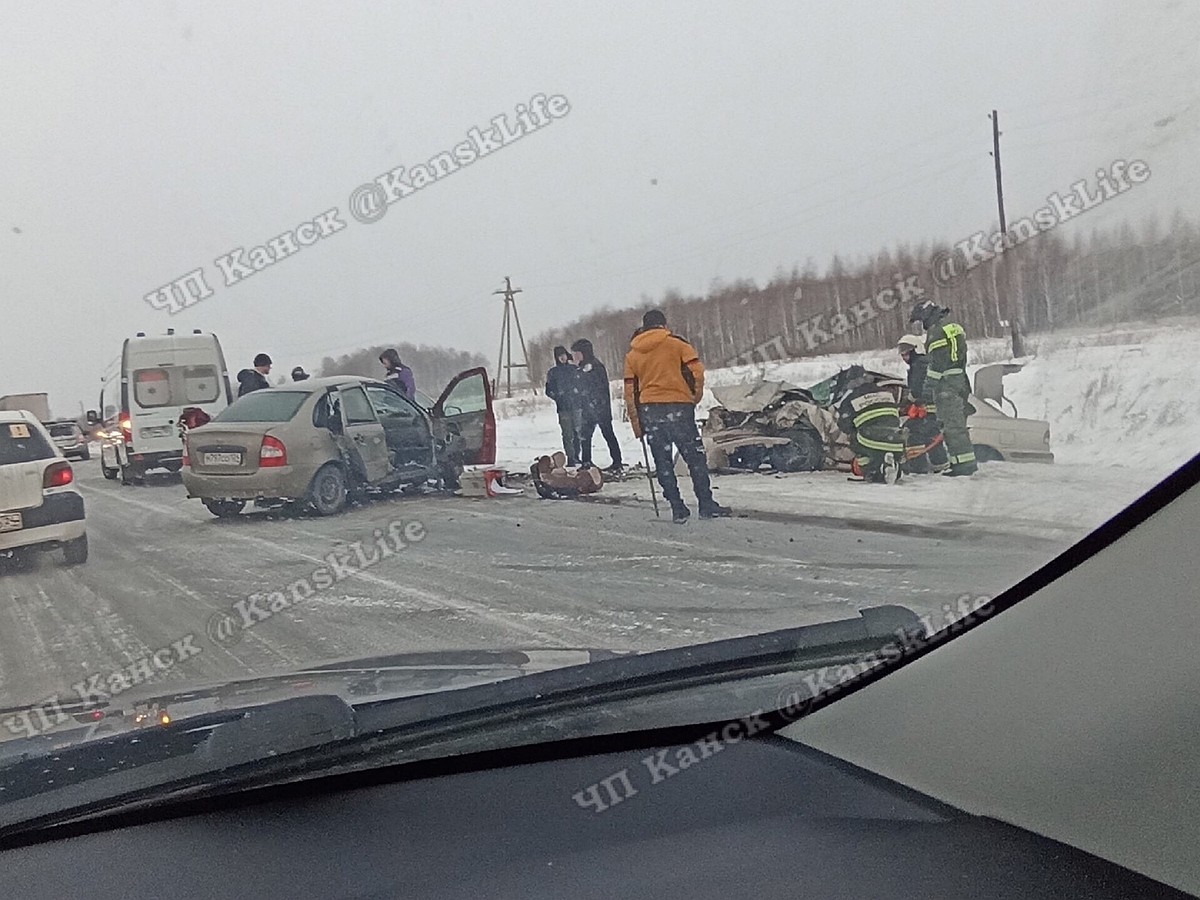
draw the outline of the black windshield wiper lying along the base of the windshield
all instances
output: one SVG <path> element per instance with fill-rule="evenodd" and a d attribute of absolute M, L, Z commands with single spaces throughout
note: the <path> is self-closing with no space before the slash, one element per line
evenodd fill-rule
<path fill-rule="evenodd" d="M 188 716 L 59 750 L 52 772 L 58 778 L 70 769 L 73 778 L 54 786 L 53 802 L 46 796 L 46 757 L 0 770 L 0 798 L 8 799 L 0 805 L 0 846 L 18 838 L 24 844 L 44 829 L 118 810 L 496 749 L 497 734 L 505 730 L 520 732 L 517 742 L 505 746 L 560 739 L 564 718 L 581 710 L 595 713 L 631 700 L 852 664 L 872 654 L 878 659 L 898 634 L 925 636 L 911 611 L 875 607 L 857 619 L 432 695 L 353 707 L 331 695 L 306 695 Z"/>

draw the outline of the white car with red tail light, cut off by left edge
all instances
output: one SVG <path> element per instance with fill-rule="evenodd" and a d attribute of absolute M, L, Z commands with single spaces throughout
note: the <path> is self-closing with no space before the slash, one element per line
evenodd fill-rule
<path fill-rule="evenodd" d="M 32 413 L 0 412 L 0 554 L 62 548 L 68 565 L 88 560 L 83 497 L 74 472 Z"/>

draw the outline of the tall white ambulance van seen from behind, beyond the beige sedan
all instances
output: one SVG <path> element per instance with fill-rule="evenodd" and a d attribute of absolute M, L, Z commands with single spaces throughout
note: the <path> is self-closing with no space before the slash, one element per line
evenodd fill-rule
<path fill-rule="evenodd" d="M 233 402 L 229 371 L 217 336 L 196 329 L 162 337 L 125 340 L 119 365 L 104 378 L 100 412 L 88 413 L 89 425 L 106 421 L 100 466 L 104 478 L 142 484 L 150 469 L 179 472 L 184 466 L 184 439 L 179 416 L 198 407 L 214 416 Z"/>

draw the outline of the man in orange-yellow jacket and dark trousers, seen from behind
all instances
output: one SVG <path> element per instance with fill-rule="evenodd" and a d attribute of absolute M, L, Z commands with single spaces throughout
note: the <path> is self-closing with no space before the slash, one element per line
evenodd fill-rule
<path fill-rule="evenodd" d="M 671 504 L 676 523 L 691 515 L 679 496 L 672 446 L 688 463 L 702 518 L 731 515 L 728 506 L 713 499 L 704 445 L 696 428 L 696 404 L 704 396 L 704 366 L 696 348 L 667 330 L 667 317 L 650 310 L 634 332 L 625 356 L 625 407 L 634 437 L 646 434 L 662 496 Z"/>

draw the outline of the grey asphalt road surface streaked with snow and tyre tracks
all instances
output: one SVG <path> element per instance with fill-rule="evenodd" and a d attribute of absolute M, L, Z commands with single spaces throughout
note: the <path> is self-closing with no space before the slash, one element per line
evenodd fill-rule
<path fill-rule="evenodd" d="M 122 487 L 95 461 L 76 470 L 89 562 L 66 568 L 59 552 L 0 562 L 0 708 L 71 700 L 72 684 L 188 634 L 204 652 L 158 674 L 164 689 L 380 653 L 649 650 L 881 604 L 936 612 L 962 594 L 998 593 L 1066 546 L 802 515 L 673 526 L 648 503 L 546 502 L 532 491 L 394 494 L 332 518 L 218 521 L 185 498 L 178 476 Z M 214 616 L 236 601 L 286 590 L 396 522 L 420 522 L 424 538 L 236 640 L 211 638 Z"/>

